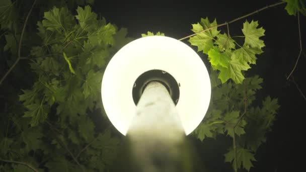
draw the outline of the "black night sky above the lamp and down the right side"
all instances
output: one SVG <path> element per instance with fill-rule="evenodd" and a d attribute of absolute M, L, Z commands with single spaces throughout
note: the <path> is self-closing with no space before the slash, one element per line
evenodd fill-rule
<path fill-rule="evenodd" d="M 129 2 L 129 1 L 128 1 Z M 101 13 L 108 22 L 128 29 L 129 36 L 139 38 L 147 31 L 164 32 L 173 38 L 182 38 L 191 32 L 191 24 L 197 23 L 206 16 L 217 22 L 231 21 L 255 10 L 279 1 L 185 1 L 180 4 L 164 2 L 118 3 L 114 1 L 96 1 L 94 11 Z M 302 166 L 302 121 L 303 105 L 306 101 L 299 94 L 293 82 L 286 80 L 286 75 L 294 66 L 299 52 L 297 17 L 288 16 L 280 5 L 262 11 L 247 20 L 258 20 L 266 32 L 263 40 L 266 47 L 258 56 L 257 65 L 248 73 L 259 74 L 264 79 L 263 89 L 258 95 L 263 98 L 270 95 L 278 98 L 281 105 L 273 130 L 267 135 L 267 142 L 256 154 L 258 162 L 251 171 L 286 171 L 299 169 Z M 305 38 L 306 17 L 301 18 L 302 38 Z M 241 35 L 243 22 L 240 20 L 230 25 L 231 35 Z M 225 27 L 219 28 L 225 31 Z M 302 41 L 305 39 L 302 39 Z M 184 41 L 187 43 L 187 41 Z M 306 48 L 303 46 L 303 48 Z M 205 60 L 204 55 L 203 59 Z M 301 56 L 293 73 L 295 81 L 304 93 L 306 57 Z M 209 142 L 209 140 L 208 140 Z M 208 143 L 209 144 L 209 143 Z M 220 143 L 221 144 L 221 143 Z M 218 146 L 218 145 L 216 145 Z M 200 149 L 200 148 L 199 148 Z M 199 150 L 200 151 L 200 150 Z M 213 153 L 210 151 L 209 153 Z"/>

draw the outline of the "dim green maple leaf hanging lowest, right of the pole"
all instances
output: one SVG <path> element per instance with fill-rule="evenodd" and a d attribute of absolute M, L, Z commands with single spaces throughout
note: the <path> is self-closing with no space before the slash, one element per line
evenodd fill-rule
<path fill-rule="evenodd" d="M 237 157 L 235 156 L 235 151 L 233 148 L 230 149 L 229 152 L 225 153 L 225 162 L 233 162 L 233 166 L 236 168 L 235 164 L 237 161 L 238 168 L 241 168 L 241 165 L 243 165 L 243 168 L 250 171 L 250 168 L 253 166 L 251 161 L 256 161 L 254 154 L 242 147 L 238 147 L 236 151 Z"/>

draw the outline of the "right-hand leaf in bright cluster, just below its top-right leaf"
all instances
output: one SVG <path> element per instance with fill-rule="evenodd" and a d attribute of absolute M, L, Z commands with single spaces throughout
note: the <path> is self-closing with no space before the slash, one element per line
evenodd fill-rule
<path fill-rule="evenodd" d="M 235 50 L 232 55 L 232 59 L 237 59 L 241 63 L 256 64 L 256 54 L 261 54 L 263 51 L 260 48 L 252 48 L 249 45 Z"/>

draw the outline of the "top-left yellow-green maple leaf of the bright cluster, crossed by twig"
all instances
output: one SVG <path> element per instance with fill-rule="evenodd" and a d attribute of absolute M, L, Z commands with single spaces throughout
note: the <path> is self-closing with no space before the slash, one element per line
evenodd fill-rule
<path fill-rule="evenodd" d="M 191 45 L 197 46 L 198 51 L 203 51 L 203 53 L 207 54 L 208 51 L 213 48 L 213 38 L 216 37 L 220 31 L 217 30 L 217 28 L 213 28 L 211 30 L 201 32 L 205 29 L 211 28 L 213 26 L 216 26 L 217 22 L 214 20 L 212 23 L 209 22 L 208 18 L 201 19 L 200 23 L 193 24 L 192 31 L 194 33 L 198 33 L 197 35 L 189 38 L 189 42 Z"/>

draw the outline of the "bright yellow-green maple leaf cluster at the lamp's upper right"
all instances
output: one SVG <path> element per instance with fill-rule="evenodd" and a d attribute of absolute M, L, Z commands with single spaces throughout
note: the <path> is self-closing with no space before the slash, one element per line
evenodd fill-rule
<path fill-rule="evenodd" d="M 242 70 L 248 70 L 250 64 L 256 64 L 255 55 L 263 52 L 261 48 L 265 44 L 259 38 L 264 36 L 265 30 L 258 28 L 257 21 L 246 21 L 242 29 L 244 36 L 241 36 L 244 37 L 244 44 L 239 45 L 229 33 L 221 34 L 215 26 L 216 20 L 210 23 L 208 18 L 202 18 L 200 23 L 192 25 L 192 31 L 199 34 L 191 37 L 189 42 L 197 46 L 198 51 L 208 55 L 213 69 L 220 71 L 218 78 L 222 83 L 230 78 L 235 83 L 242 83 L 245 78 Z M 203 32 L 211 27 L 214 28 Z"/>

